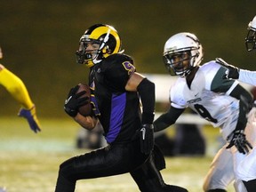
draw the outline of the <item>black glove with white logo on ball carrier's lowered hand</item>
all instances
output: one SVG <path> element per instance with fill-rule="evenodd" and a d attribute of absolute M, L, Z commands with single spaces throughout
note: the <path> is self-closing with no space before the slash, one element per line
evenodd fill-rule
<path fill-rule="evenodd" d="M 140 128 L 140 151 L 148 155 L 154 148 L 154 125 L 142 124 Z"/>

